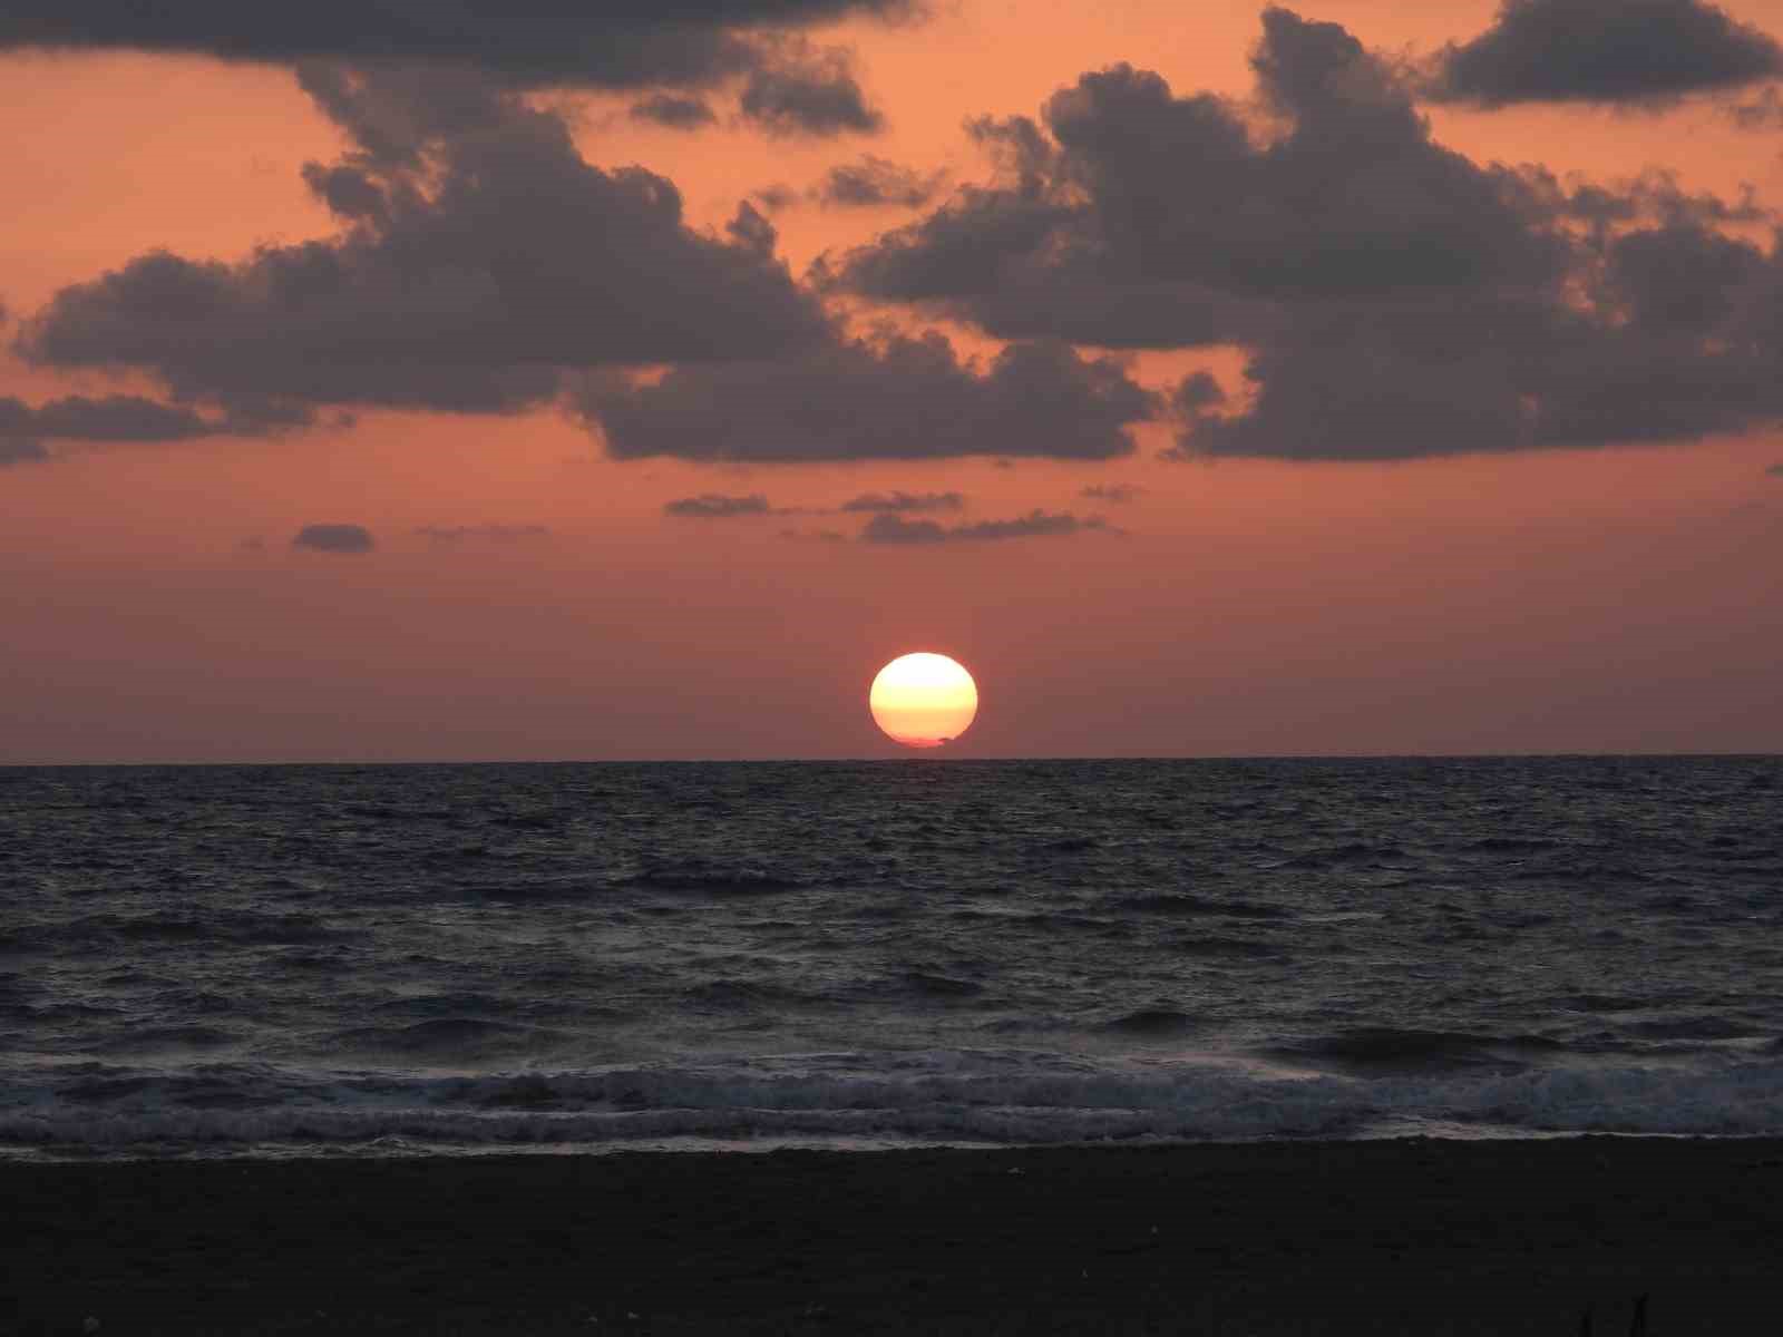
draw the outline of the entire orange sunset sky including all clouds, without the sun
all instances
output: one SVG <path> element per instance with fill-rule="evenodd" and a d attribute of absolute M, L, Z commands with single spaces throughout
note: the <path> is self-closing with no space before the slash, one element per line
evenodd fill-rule
<path fill-rule="evenodd" d="M 0 763 L 1783 751 L 1783 0 L 164 9 L 0 7 Z"/>

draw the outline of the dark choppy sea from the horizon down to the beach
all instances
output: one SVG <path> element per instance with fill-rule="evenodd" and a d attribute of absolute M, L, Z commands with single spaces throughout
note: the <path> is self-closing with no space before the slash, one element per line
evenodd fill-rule
<path fill-rule="evenodd" d="M 0 770 L 0 1157 L 1783 1134 L 1783 759 Z"/>

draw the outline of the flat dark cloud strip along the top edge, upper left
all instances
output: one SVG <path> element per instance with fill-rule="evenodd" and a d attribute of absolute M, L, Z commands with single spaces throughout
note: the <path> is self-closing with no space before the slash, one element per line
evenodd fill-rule
<path fill-rule="evenodd" d="M 9 0 L 0 50 L 196 52 L 232 61 L 307 59 L 474 66 L 522 87 L 711 84 L 772 66 L 765 30 L 850 14 L 900 16 L 909 0 Z"/>

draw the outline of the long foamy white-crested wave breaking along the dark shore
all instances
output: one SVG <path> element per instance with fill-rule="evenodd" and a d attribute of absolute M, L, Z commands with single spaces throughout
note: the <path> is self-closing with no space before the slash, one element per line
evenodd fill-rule
<path fill-rule="evenodd" d="M 1778 1136 L 1783 1062 L 1717 1071 L 1592 1068 L 1362 1080 L 1216 1062 L 1091 1066 L 1080 1055 L 806 1055 L 645 1066 L 294 1082 L 264 1064 L 166 1075 L 87 1064 L 0 1111 L 0 1144 L 166 1150 L 342 1144 L 624 1144 L 661 1137 L 883 1137 L 1084 1143 L 1125 1137 L 1368 1137 L 1407 1121 L 1494 1134 Z M 98 1071 L 91 1071 L 98 1070 Z"/>

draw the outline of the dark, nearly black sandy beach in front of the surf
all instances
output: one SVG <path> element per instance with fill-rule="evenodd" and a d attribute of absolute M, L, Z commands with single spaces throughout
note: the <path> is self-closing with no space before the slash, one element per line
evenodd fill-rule
<path fill-rule="evenodd" d="M 1778 1141 L 11 1164 L 0 1203 L 20 1333 L 1783 1323 Z"/>

